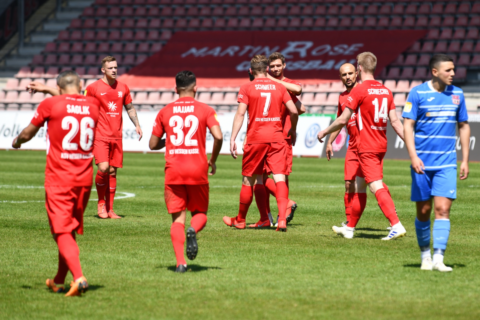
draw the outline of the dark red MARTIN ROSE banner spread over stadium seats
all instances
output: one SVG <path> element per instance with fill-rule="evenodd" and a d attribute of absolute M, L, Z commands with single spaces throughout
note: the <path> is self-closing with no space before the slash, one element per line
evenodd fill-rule
<path fill-rule="evenodd" d="M 253 55 L 275 51 L 285 56 L 289 78 L 338 79 L 339 67 L 355 64 L 357 54 L 364 51 L 376 55 L 378 74 L 425 34 L 425 30 L 177 32 L 129 74 L 172 77 L 190 70 L 197 77 L 245 78 Z"/>

